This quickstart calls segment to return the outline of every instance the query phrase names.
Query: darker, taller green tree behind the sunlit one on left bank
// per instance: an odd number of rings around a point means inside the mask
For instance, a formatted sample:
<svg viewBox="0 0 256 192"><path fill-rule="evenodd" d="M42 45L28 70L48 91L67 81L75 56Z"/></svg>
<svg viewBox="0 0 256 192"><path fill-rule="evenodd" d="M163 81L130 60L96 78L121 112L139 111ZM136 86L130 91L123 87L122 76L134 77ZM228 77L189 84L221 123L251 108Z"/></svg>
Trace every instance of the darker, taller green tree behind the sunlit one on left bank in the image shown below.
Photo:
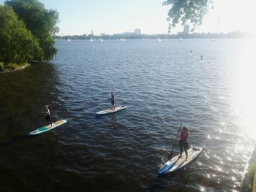
<svg viewBox="0 0 256 192"><path fill-rule="evenodd" d="M39 42L42 51L34 53L34 60L50 60L56 53L54 47L53 35L59 32L59 13L55 10L45 9L44 5L37 0L7 0L5 4L9 5L23 20L26 28L31 31Z"/></svg>

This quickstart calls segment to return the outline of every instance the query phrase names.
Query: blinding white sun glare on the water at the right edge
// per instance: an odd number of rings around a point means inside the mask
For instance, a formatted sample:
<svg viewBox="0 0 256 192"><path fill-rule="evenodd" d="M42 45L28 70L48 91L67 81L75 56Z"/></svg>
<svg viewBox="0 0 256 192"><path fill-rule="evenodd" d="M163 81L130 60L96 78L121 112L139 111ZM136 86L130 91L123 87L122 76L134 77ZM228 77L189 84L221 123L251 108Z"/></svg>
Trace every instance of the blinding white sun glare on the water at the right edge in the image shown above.
<svg viewBox="0 0 256 192"><path fill-rule="evenodd" d="M238 90L237 101L240 109L241 128L249 137L256 138L256 66L255 66L255 44L256 39L246 39L241 45L241 57L238 59Z"/></svg>

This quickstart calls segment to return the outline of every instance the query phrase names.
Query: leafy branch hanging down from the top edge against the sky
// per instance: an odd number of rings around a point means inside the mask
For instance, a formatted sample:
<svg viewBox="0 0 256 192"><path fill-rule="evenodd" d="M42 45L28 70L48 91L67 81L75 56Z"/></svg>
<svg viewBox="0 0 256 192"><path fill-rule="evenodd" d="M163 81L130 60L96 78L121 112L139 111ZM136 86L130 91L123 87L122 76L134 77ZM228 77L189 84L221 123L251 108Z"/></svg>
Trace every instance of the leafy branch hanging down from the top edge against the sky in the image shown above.
<svg viewBox="0 0 256 192"><path fill-rule="evenodd" d="M169 33L172 28L175 28L178 23L184 25L189 22L194 28L202 24L203 16L206 15L208 5L212 1L208 0L167 0L163 5L171 5L168 12L167 20L169 23ZM192 31L194 31L192 28Z"/></svg>

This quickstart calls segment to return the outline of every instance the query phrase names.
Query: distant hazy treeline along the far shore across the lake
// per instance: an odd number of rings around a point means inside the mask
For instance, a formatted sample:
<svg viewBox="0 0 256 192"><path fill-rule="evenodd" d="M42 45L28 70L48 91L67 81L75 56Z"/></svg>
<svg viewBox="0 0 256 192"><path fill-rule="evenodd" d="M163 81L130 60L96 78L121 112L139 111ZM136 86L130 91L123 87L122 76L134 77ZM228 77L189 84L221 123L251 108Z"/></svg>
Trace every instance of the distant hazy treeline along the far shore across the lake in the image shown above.
<svg viewBox="0 0 256 192"><path fill-rule="evenodd" d="M141 35L125 35L125 34L115 34L115 35L67 35L67 36L53 36L54 39L63 39L63 40L90 40L90 39L178 39L178 38L205 38L205 39L218 39L218 38L244 38L251 37L252 34L247 34L241 31L234 31L227 34L215 34L215 33L193 33L193 34L141 34Z"/></svg>

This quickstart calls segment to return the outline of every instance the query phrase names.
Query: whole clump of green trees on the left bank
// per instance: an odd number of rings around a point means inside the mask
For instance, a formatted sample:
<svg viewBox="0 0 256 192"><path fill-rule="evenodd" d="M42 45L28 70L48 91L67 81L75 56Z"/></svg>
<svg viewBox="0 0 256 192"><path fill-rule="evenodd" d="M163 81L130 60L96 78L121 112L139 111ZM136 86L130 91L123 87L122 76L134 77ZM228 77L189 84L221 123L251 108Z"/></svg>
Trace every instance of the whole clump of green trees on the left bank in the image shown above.
<svg viewBox="0 0 256 192"><path fill-rule="evenodd" d="M0 5L0 62L4 65L48 61L57 49L59 13L37 0L10 0Z"/></svg>

